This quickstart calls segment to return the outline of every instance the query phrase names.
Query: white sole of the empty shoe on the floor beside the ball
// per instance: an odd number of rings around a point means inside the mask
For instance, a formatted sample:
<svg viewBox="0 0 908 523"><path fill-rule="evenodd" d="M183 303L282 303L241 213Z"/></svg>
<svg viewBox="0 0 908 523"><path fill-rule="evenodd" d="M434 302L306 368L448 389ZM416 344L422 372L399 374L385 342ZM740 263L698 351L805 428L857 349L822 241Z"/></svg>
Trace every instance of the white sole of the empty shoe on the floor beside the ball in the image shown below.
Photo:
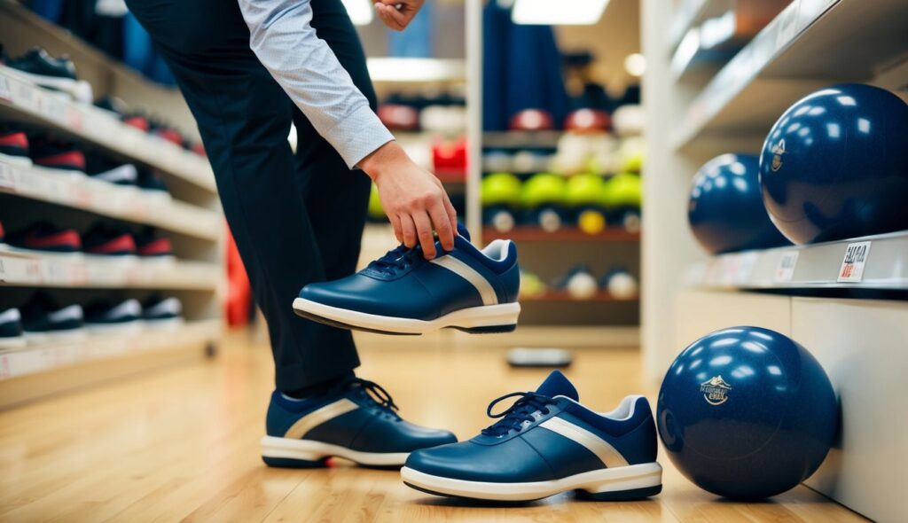
<svg viewBox="0 0 908 523"><path fill-rule="evenodd" d="M432 476L418 470L400 469L403 482L412 488L458 498L492 501L530 501L568 490L582 490L594 499L629 499L653 496L662 488L662 466L656 462L598 469L552 481L493 483Z"/></svg>

